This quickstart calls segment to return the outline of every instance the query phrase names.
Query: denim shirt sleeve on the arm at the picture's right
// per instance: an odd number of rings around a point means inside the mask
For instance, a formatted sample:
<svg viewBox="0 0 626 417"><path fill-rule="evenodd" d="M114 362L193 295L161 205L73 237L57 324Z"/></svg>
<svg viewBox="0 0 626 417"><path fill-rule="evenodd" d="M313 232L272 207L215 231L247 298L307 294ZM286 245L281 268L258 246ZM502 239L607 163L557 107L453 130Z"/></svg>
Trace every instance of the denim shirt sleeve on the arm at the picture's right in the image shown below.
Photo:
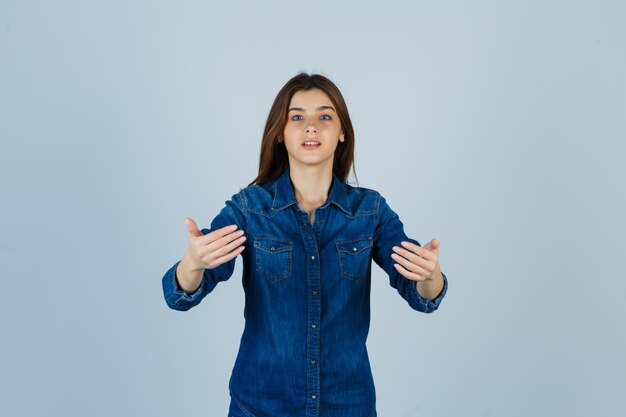
<svg viewBox="0 0 626 417"><path fill-rule="evenodd" d="M391 207L389 207L385 198L380 195L372 258L374 262L389 275L389 285L398 291L400 296L406 300L412 309L424 313L432 313L439 308L441 300L448 291L448 278L442 272L443 288L439 295L433 300L423 298L415 288L415 281L404 277L393 266L396 261L391 257L391 254L395 253L392 247L402 247L400 244L402 241L408 241L422 246L417 240L411 239L404 233L404 226L400 218Z"/></svg>

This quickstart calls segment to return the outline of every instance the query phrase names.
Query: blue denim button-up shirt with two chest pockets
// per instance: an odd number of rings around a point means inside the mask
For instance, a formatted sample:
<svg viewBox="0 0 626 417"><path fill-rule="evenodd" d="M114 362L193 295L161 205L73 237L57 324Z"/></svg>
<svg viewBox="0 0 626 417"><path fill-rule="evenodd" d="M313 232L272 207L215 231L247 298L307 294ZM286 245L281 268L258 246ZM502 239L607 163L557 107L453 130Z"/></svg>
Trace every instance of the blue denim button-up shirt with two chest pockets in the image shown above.
<svg viewBox="0 0 626 417"><path fill-rule="evenodd" d="M392 246L411 241L378 192L333 175L326 202L311 224L293 193L289 169L276 180L234 194L210 229L237 224L243 258L245 326L229 381L229 417L376 416L374 380L365 342L370 323L371 260L415 311L435 311L448 289L422 298L397 272ZM167 305L196 306L230 278L236 258L204 271L187 294L163 276Z"/></svg>

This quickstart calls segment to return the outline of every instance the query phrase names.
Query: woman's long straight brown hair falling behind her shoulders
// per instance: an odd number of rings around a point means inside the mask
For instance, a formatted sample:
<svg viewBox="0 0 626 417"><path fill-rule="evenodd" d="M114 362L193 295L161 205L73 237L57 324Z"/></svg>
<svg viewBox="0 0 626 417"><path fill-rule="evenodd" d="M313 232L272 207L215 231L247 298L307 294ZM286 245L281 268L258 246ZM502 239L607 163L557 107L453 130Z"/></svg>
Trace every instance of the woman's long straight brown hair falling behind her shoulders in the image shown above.
<svg viewBox="0 0 626 417"><path fill-rule="evenodd" d="M350 121L348 107L339 88L323 75L301 72L287 81L287 84L281 88L274 99L267 116L265 130L263 131L261 154L259 156L259 174L248 185L264 184L273 181L289 167L287 148L285 148L284 141L278 142L278 139L283 139L283 131L287 124L287 110L293 95L298 91L307 91L313 88L318 88L328 94L337 110L341 128L344 132L344 141L338 142L337 149L335 149L333 173L342 182L346 182L350 168L352 168L356 178L356 171L354 170L354 129L352 128L352 121Z"/></svg>

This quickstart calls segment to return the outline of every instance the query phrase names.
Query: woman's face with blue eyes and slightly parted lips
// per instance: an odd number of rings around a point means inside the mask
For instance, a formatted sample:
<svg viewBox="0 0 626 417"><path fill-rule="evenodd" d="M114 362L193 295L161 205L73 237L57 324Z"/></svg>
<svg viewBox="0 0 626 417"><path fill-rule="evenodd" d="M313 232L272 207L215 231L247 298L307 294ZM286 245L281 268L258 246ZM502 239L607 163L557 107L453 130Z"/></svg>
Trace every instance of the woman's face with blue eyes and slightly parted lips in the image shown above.
<svg viewBox="0 0 626 417"><path fill-rule="evenodd" d="M300 90L291 98L283 131L289 165L329 165L338 141L344 141L339 116L328 95L318 88ZM317 142L309 146L305 142Z"/></svg>

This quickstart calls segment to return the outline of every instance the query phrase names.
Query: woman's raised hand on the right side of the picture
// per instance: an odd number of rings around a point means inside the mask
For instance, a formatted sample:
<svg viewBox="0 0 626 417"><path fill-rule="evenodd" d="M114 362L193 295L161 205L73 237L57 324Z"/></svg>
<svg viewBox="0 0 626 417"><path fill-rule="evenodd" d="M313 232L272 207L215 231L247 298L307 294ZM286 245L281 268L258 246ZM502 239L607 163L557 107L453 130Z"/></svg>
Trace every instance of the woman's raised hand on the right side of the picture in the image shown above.
<svg viewBox="0 0 626 417"><path fill-rule="evenodd" d="M401 242L403 247L394 246L391 257L397 262L396 267L402 276L412 281L427 281L434 279L440 271L439 241L433 239L425 246L418 246L411 242Z"/></svg>

